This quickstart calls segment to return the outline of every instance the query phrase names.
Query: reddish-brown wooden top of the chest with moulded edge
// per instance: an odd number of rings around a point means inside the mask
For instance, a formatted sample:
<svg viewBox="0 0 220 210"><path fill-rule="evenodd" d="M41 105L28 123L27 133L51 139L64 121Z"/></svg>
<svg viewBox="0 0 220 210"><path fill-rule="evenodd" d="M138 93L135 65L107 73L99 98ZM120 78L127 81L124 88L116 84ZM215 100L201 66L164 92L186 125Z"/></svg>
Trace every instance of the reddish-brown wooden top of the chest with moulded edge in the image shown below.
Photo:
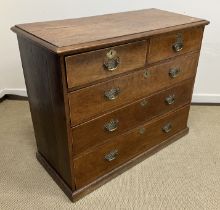
<svg viewBox="0 0 220 210"><path fill-rule="evenodd" d="M55 52L123 41L169 31L185 25L204 25L208 21L158 9L144 9L100 16L15 25L16 33L32 36ZM123 37L123 38L122 38ZM70 47L71 46L71 47Z"/></svg>

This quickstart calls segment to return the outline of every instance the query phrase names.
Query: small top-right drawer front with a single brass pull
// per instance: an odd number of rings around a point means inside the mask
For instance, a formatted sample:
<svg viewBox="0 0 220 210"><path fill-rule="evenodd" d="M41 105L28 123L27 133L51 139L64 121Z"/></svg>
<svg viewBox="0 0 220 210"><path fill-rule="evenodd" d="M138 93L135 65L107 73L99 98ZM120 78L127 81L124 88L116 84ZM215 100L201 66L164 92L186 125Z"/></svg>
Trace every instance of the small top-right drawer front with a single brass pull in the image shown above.
<svg viewBox="0 0 220 210"><path fill-rule="evenodd" d="M150 40L147 62L153 63L182 53L197 51L201 47L203 27L172 32Z"/></svg>

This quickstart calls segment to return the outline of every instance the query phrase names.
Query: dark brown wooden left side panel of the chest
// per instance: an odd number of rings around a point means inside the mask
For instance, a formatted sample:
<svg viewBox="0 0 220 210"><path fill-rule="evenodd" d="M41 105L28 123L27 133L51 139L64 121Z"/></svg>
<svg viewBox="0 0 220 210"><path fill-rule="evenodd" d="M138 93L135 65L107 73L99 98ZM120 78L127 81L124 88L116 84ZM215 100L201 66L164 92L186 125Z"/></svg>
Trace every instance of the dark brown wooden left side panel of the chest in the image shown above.
<svg viewBox="0 0 220 210"><path fill-rule="evenodd" d="M59 58L28 39L18 42L38 151L74 189Z"/></svg>

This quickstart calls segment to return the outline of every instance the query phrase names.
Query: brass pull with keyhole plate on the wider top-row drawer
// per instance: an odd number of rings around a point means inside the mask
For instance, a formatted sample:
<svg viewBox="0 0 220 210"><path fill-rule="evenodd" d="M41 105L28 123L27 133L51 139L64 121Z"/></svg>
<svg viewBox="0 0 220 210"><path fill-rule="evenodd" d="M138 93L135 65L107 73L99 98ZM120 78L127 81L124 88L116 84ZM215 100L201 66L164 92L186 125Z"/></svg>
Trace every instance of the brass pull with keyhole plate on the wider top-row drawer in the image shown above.
<svg viewBox="0 0 220 210"><path fill-rule="evenodd" d="M117 56L117 52L115 50L109 50L104 59L104 67L108 71L114 71L118 68L119 63L120 59Z"/></svg>

